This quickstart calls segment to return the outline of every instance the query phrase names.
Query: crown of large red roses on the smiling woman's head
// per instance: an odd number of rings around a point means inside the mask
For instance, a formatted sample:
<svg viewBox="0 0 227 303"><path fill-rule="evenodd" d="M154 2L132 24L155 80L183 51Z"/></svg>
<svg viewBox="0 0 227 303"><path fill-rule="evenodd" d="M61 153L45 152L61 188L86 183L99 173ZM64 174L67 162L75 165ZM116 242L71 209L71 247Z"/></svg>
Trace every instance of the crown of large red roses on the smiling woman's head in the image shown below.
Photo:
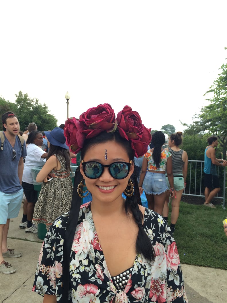
<svg viewBox="0 0 227 303"><path fill-rule="evenodd" d="M147 152L151 141L151 128L146 128L138 112L128 105L117 114L117 119L108 103L89 108L79 119L73 117L65 121L64 135L66 144L78 153L83 148L85 139L93 138L100 132L116 130L123 138L130 140L135 157L143 156Z"/></svg>

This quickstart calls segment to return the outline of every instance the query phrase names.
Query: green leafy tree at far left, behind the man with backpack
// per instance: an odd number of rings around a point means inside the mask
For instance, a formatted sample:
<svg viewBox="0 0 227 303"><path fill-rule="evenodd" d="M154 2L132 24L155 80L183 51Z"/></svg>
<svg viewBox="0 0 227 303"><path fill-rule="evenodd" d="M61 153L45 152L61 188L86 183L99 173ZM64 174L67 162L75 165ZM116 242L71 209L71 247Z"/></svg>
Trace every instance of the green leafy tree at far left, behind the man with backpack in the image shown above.
<svg viewBox="0 0 227 303"><path fill-rule="evenodd" d="M49 114L48 107L45 103L42 105L38 99L31 99L28 97L28 94L23 95L21 91L15 96L15 103L0 98L0 114L2 115L7 111L15 112L22 131L30 122L35 122L38 130L41 131L52 130L57 126L57 119Z"/></svg>

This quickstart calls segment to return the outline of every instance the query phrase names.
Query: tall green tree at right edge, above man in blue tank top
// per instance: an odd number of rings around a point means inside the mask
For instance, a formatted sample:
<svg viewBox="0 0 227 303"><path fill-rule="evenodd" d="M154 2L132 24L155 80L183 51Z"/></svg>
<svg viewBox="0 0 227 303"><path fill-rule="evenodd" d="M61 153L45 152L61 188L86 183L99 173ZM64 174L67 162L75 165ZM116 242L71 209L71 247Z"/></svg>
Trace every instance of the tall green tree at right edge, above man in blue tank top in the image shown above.
<svg viewBox="0 0 227 303"><path fill-rule="evenodd" d="M226 49L226 48L225 48ZM209 90L204 94L210 103L202 107L201 113L196 115L197 121L188 126L188 134L205 132L219 138L223 148L223 158L226 159L227 147L227 62L219 68L219 77L215 79ZM186 125L186 124L183 124ZM207 136L208 137L208 136Z"/></svg>

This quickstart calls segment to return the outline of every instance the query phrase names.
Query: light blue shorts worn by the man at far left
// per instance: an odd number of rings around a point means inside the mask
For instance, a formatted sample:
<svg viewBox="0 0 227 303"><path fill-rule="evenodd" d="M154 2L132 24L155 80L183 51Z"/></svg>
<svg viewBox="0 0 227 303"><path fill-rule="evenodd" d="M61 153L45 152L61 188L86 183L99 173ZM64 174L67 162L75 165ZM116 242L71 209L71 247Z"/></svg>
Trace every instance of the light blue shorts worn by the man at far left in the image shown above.
<svg viewBox="0 0 227 303"><path fill-rule="evenodd" d="M0 191L0 224L6 224L7 219L16 218L21 208L23 188L14 194Z"/></svg>

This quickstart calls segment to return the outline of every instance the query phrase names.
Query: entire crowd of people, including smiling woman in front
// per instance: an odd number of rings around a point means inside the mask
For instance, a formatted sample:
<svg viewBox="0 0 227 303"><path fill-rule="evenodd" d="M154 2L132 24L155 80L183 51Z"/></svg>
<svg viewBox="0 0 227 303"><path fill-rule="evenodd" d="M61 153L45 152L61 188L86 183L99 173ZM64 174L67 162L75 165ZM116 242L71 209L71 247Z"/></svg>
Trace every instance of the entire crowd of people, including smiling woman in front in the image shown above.
<svg viewBox="0 0 227 303"><path fill-rule="evenodd" d="M173 238L188 166L179 148L182 132L171 134L163 148L162 132L151 136L137 112L126 105L115 115L109 104L52 131L42 133L29 123L22 137L13 112L2 115L2 123L0 273L15 272L5 260L21 257L8 248L7 234L24 193L19 226L33 233L38 223L47 228L32 289L45 303L188 302ZM208 143L204 205L214 207L211 200L220 190L215 166L227 162L215 158L217 138ZM70 165L78 154L73 186ZM34 167L40 167L38 197ZM148 208L141 203L143 191ZM88 194L91 201L82 204ZM227 236L227 223L224 231Z"/></svg>

